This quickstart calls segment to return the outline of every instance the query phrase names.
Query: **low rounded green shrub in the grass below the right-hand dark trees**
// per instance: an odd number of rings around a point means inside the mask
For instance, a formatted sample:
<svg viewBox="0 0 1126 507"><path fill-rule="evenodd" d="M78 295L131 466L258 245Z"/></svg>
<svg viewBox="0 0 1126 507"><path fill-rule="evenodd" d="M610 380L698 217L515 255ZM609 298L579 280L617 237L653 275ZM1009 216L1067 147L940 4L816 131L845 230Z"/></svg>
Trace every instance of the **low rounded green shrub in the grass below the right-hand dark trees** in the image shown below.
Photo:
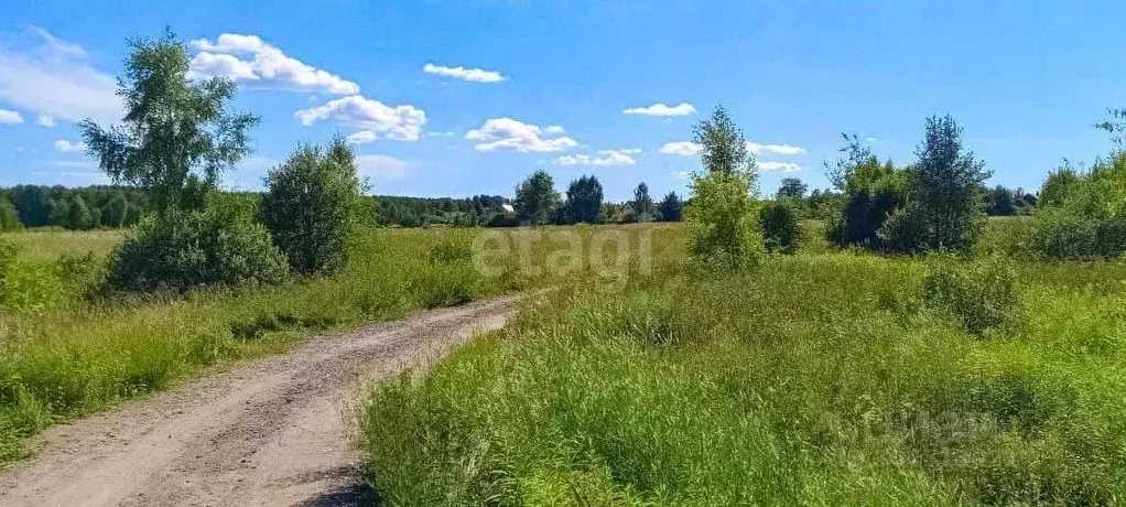
<svg viewBox="0 0 1126 507"><path fill-rule="evenodd" d="M923 277L922 296L929 308L977 336L1012 323L1019 310L1016 275L997 259L940 260Z"/></svg>

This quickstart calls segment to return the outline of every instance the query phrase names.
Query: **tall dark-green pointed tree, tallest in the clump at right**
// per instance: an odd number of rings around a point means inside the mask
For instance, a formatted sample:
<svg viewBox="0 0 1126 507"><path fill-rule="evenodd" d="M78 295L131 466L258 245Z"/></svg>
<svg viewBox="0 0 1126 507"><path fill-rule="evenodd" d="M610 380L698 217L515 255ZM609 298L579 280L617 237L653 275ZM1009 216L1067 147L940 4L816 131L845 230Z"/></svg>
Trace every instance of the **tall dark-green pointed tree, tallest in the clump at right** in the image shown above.
<svg viewBox="0 0 1126 507"><path fill-rule="evenodd" d="M885 224L885 247L910 252L969 249L984 221L982 183L990 172L963 148L962 128L950 116L927 118L926 137L917 153L908 207L896 217L910 225Z"/></svg>

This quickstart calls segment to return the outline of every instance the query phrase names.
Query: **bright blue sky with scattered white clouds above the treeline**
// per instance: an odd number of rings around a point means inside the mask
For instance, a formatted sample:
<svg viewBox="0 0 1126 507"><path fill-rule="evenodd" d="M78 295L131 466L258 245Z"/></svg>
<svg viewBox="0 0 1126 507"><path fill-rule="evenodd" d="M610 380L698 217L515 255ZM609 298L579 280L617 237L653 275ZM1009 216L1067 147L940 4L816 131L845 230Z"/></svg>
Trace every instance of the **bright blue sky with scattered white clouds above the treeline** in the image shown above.
<svg viewBox="0 0 1126 507"><path fill-rule="evenodd" d="M1126 2L249 3L3 2L0 185L102 181L73 122L119 117L125 41L166 25L262 117L224 178L241 188L340 133L377 194L511 195L537 168L561 190L593 174L611 199L642 180L683 192L685 142L716 104L756 143L765 192L828 186L841 132L910 162L923 118L947 113L993 181L1037 188L1107 152L1091 125L1126 107Z"/></svg>

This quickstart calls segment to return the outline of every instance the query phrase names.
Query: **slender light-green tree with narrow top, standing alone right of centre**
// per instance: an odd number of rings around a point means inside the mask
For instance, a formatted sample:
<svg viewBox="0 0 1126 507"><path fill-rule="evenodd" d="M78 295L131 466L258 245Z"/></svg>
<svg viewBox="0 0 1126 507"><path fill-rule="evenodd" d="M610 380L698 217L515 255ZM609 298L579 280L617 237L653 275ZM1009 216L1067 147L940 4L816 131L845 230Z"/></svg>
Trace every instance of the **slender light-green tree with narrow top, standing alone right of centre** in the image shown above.
<svg viewBox="0 0 1126 507"><path fill-rule="evenodd" d="M703 174L692 175L692 201L685 211L689 251L706 268L741 270L762 252L758 206L752 198L758 171L742 131L722 107L695 128Z"/></svg>

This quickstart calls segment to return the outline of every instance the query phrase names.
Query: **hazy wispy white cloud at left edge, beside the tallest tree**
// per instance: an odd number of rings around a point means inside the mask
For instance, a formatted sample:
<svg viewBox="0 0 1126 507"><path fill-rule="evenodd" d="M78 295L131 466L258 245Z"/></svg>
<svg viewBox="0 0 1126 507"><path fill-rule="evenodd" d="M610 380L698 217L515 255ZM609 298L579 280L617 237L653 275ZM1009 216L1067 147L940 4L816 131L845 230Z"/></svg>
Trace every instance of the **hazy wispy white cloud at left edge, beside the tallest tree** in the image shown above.
<svg viewBox="0 0 1126 507"><path fill-rule="evenodd" d="M0 101L54 118L110 123L124 112L116 90L114 77L87 63L77 44L37 27L0 36Z"/></svg>

